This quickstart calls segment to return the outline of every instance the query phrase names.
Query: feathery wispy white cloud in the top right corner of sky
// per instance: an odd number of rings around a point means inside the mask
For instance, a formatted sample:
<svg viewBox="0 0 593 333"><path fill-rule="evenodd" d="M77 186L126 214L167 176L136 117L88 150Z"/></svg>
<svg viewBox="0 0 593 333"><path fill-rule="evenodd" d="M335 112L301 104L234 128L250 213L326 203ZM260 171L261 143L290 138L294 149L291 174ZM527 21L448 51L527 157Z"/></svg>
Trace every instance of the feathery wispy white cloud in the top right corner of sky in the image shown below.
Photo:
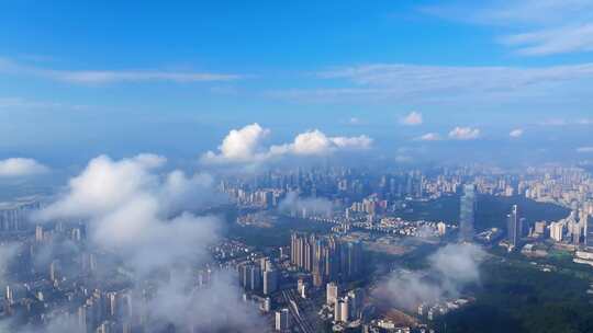
<svg viewBox="0 0 593 333"><path fill-rule="evenodd" d="M499 39L525 56L593 50L590 0L472 1L421 11L471 24L512 28Z"/></svg>

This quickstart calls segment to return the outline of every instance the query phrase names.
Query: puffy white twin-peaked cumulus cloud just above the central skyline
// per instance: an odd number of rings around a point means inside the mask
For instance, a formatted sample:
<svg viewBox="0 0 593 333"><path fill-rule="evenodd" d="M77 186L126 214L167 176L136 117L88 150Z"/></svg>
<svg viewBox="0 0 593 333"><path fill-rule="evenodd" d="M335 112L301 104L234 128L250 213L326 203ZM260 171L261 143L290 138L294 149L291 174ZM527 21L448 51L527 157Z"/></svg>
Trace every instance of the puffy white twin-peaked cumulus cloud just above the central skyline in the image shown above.
<svg viewBox="0 0 593 333"><path fill-rule="evenodd" d="M201 158L204 163L260 163L287 156L327 156L340 150L368 149L372 139L367 136L328 137L318 129L299 134L290 143L261 147L269 129L258 124L233 129L219 146L219 152L208 151Z"/></svg>

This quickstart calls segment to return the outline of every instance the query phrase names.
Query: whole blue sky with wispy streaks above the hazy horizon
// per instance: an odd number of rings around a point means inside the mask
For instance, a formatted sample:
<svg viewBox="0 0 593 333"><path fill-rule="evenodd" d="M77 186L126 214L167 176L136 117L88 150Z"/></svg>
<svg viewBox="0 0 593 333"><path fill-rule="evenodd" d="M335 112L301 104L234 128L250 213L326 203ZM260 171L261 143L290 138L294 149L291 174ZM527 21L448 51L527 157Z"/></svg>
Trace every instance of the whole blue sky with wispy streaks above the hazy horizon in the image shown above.
<svg viewBox="0 0 593 333"><path fill-rule="evenodd" d="M272 141L318 128L417 151L574 152L593 146L591 12L589 0L4 1L0 157L189 159L255 122ZM422 124L403 124L411 112ZM479 135L450 142L456 127Z"/></svg>

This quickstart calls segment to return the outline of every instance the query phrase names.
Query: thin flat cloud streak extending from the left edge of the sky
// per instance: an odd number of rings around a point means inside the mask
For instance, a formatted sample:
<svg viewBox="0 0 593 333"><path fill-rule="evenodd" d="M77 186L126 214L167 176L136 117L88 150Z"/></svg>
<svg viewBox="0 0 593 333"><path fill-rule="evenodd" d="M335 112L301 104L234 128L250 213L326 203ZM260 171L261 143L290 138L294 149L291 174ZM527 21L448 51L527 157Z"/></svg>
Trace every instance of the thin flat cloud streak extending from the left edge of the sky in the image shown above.
<svg viewBox="0 0 593 333"><path fill-rule="evenodd" d="M23 74L82 84L107 84L115 82L215 82L242 79L238 74L193 72L193 71L165 71L165 70L64 70L47 69L27 66L11 59L0 58L0 72Z"/></svg>

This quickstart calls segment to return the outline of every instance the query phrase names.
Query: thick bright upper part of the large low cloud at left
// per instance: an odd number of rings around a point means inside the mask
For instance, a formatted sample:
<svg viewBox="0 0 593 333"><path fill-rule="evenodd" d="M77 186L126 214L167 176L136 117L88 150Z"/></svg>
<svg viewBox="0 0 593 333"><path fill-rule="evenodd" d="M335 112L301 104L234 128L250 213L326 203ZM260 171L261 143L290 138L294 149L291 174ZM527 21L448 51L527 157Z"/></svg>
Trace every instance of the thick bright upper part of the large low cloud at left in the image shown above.
<svg viewBox="0 0 593 333"><path fill-rule="evenodd" d="M96 245L122 254L141 271L203 255L216 239L216 219L182 211L215 197L212 181L181 171L161 177L156 169L164 162L155 154L98 157L35 218L88 220Z"/></svg>

